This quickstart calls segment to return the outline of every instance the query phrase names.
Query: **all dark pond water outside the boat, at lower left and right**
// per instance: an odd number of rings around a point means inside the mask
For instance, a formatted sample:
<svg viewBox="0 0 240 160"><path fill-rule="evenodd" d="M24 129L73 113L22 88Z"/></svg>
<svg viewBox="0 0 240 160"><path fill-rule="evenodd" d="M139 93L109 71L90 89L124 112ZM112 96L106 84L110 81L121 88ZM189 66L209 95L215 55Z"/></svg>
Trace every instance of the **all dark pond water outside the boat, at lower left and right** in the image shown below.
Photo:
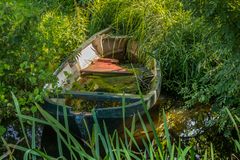
<svg viewBox="0 0 240 160"><path fill-rule="evenodd" d="M178 144L179 140L181 140L183 146L194 145L194 149L198 150L198 154L204 154L205 149L209 148L210 143L213 143L220 152L216 154L227 155L231 152L227 149L228 145L230 145L228 144L228 141L217 132L214 126L210 127L213 119L213 116L210 113L210 106L196 106L193 109L182 109L181 106L181 101L161 96L158 103L150 110L151 117L160 138L164 139L162 116L164 109L167 115L167 122L172 141ZM143 119L146 123L148 134L153 138L152 128L150 127L147 118L143 117ZM3 137L8 143L25 145L22 140L23 136L20 124L17 120L8 120L1 125L4 125L6 128ZM43 128L43 126L37 126L35 137L37 146L42 147L48 154L56 156L58 154L56 134L49 127ZM31 126L26 126L26 132L28 138L31 139ZM141 138L145 137L145 132L143 131L140 122L136 123L136 132L134 136L139 142L139 145L141 145ZM1 152L4 154L3 147L0 148L0 153ZM18 152L16 152L16 154L19 155Z"/></svg>

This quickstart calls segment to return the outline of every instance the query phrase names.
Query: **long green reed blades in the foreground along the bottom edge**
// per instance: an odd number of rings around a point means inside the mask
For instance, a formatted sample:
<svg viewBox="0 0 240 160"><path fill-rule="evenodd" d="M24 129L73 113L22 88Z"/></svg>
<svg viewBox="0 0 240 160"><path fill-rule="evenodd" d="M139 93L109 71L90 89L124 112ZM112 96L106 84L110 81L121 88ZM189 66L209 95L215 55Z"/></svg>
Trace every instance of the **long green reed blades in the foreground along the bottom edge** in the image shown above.
<svg viewBox="0 0 240 160"><path fill-rule="evenodd" d="M146 139L142 139L142 143L144 147L140 147L137 143L134 132L135 132L135 118L133 118L132 126L130 129L128 127L124 127L124 136L120 136L117 131L113 134L109 134L106 125L104 124L103 130L100 128L96 115L93 112L93 117L95 119L95 124L93 127L93 132L89 133L89 140L86 140L84 145L80 143L70 132L68 129L68 124L66 121L67 114L65 113L65 123L64 125L59 123L58 120L53 118L50 114L48 114L45 110L43 110L38 104L36 107L38 111L41 113L41 119L36 118L34 116L24 115L21 113L19 103L16 97L13 95L17 116L19 117L19 121L23 133L25 132L24 121L29 121L32 123L32 136L35 133L35 125L48 125L54 129L56 134L60 137L60 141L58 141L58 145L63 143L68 152L70 153L70 157L64 157L64 153L59 151L59 157L51 157L45 151L42 151L40 148L36 148L36 141L34 137L32 137L31 145L20 146L18 144L8 144L4 138L2 137L2 141L4 142L4 146L6 147L6 153L3 154L2 157L8 157L9 159L19 159L20 157L14 157L14 150L19 150L24 153L23 159L194 159L195 154L192 153L192 147L186 146L184 148L181 145L176 145L172 143L171 136L168 131L166 114L163 112L163 120L164 120L164 130L165 130L165 141L166 145L162 144L163 139L159 139L159 137L154 137L150 139L149 133L147 131L147 127L145 122L143 121L140 115L138 118L141 121L142 128L145 132ZM236 147L236 155L240 153L240 139L239 139L239 130L238 126L240 124L239 117L232 115L229 110L227 110L233 125L236 128L238 139L233 139L233 142ZM146 112L146 114L149 114ZM150 123L153 123L151 117L148 118ZM154 126L151 128L153 131L155 130ZM156 131L156 130L155 130ZM28 142L28 138L25 137L25 141ZM29 144L29 143L28 143ZM163 146L162 146L163 145ZM102 147L101 147L102 146ZM62 148L58 148L62 150ZM90 150L90 151L89 151ZM210 150L205 152L204 155L201 155L203 159L214 159L214 147L210 146Z"/></svg>

